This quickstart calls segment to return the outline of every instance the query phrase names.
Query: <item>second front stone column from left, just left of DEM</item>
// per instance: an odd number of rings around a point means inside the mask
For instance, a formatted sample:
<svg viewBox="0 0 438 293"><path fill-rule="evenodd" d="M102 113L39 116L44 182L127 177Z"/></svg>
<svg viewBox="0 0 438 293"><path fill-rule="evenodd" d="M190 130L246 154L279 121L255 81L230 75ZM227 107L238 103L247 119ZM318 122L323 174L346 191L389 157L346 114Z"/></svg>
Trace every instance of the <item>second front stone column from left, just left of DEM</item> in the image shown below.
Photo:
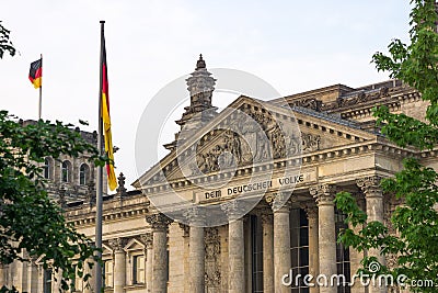
<svg viewBox="0 0 438 293"><path fill-rule="evenodd" d="M189 292L203 293L205 290L205 216L198 207L191 207L184 214L189 223L188 282Z"/></svg>

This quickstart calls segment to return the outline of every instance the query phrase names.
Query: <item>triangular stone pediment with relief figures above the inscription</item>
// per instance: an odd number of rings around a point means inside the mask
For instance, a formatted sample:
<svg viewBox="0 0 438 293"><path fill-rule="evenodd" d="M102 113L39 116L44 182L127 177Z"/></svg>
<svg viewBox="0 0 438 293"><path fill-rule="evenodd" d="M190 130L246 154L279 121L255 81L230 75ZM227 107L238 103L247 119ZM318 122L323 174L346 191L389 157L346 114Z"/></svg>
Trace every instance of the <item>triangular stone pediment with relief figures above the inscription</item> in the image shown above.
<svg viewBox="0 0 438 293"><path fill-rule="evenodd" d="M157 185L376 139L354 122L304 108L240 97L177 145L134 185Z"/></svg>

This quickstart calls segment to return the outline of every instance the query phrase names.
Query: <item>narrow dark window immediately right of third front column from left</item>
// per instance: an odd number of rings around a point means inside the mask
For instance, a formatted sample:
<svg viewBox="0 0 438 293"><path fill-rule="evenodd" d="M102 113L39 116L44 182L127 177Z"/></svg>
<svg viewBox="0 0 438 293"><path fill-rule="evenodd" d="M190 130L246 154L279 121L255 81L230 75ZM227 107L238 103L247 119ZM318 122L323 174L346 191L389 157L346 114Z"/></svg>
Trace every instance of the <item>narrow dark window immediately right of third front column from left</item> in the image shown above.
<svg viewBox="0 0 438 293"><path fill-rule="evenodd" d="M251 215L252 293L263 293L263 232L261 217Z"/></svg>

